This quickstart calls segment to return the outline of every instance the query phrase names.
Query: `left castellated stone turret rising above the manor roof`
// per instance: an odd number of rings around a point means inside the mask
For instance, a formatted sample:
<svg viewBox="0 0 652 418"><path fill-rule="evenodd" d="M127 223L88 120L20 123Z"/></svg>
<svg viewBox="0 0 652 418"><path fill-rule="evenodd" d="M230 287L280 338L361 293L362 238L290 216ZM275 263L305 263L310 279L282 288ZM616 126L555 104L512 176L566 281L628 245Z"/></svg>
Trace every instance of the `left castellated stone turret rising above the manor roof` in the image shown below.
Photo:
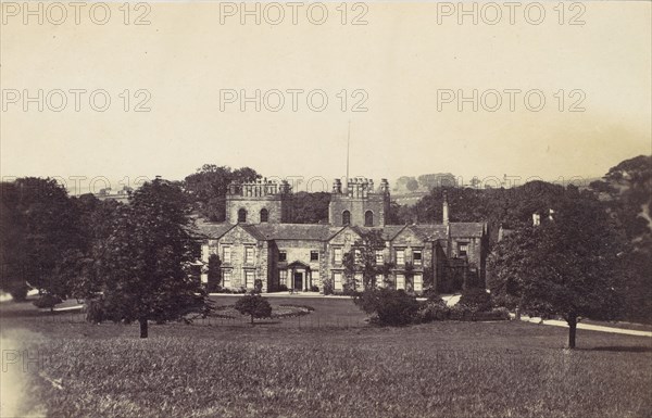
<svg viewBox="0 0 652 418"><path fill-rule="evenodd" d="M226 221L229 224L291 223L291 187L283 180L258 179L233 182L226 193Z"/></svg>

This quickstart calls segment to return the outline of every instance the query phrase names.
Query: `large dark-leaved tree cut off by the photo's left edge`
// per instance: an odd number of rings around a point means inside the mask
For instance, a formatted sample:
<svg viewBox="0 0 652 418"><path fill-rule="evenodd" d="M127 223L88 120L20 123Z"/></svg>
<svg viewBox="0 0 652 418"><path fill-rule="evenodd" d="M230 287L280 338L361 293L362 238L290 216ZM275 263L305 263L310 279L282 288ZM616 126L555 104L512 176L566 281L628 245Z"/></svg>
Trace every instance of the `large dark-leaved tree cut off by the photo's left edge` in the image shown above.
<svg viewBox="0 0 652 418"><path fill-rule="evenodd" d="M50 178L25 177L1 187L0 287L14 299L28 288L54 297L71 293L66 261L84 246L76 206Z"/></svg>

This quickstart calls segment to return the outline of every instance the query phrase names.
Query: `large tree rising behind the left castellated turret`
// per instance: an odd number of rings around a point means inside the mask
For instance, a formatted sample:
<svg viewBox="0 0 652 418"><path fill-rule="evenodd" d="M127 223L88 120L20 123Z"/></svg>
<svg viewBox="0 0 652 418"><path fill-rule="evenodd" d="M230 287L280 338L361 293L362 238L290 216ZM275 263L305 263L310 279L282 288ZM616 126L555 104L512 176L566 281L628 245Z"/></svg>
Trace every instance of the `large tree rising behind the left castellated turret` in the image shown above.
<svg viewBox="0 0 652 418"><path fill-rule="evenodd" d="M233 181L253 181L261 178L253 168L231 169L228 166L204 164L184 180L184 189L195 210L213 221L226 217L226 191Z"/></svg>

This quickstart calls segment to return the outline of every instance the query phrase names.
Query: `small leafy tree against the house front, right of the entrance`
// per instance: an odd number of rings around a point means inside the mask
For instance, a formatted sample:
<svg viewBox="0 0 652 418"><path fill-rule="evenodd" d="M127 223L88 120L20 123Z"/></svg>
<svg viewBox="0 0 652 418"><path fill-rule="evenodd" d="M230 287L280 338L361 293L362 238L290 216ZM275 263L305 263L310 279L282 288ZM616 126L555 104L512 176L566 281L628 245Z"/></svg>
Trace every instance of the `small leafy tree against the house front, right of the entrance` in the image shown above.
<svg viewBox="0 0 652 418"><path fill-rule="evenodd" d="M385 240L379 230L371 230L362 235L356 240L351 250L344 254L342 264L344 266L344 277L349 283L350 290L356 290L359 284L358 277L362 277L363 289L374 289L376 277L385 275L385 264L378 264L376 261L376 251L385 250Z"/></svg>

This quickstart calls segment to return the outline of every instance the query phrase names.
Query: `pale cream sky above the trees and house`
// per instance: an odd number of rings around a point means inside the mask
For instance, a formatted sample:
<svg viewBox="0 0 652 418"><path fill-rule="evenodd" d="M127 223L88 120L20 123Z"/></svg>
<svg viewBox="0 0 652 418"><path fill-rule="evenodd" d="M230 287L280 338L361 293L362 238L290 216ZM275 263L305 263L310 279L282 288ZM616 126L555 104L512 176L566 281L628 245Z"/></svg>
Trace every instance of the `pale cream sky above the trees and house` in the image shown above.
<svg viewBox="0 0 652 418"><path fill-rule="evenodd" d="M330 181L349 136L350 175L376 180L598 177L652 153L648 1L63 4L2 3L5 179Z"/></svg>

